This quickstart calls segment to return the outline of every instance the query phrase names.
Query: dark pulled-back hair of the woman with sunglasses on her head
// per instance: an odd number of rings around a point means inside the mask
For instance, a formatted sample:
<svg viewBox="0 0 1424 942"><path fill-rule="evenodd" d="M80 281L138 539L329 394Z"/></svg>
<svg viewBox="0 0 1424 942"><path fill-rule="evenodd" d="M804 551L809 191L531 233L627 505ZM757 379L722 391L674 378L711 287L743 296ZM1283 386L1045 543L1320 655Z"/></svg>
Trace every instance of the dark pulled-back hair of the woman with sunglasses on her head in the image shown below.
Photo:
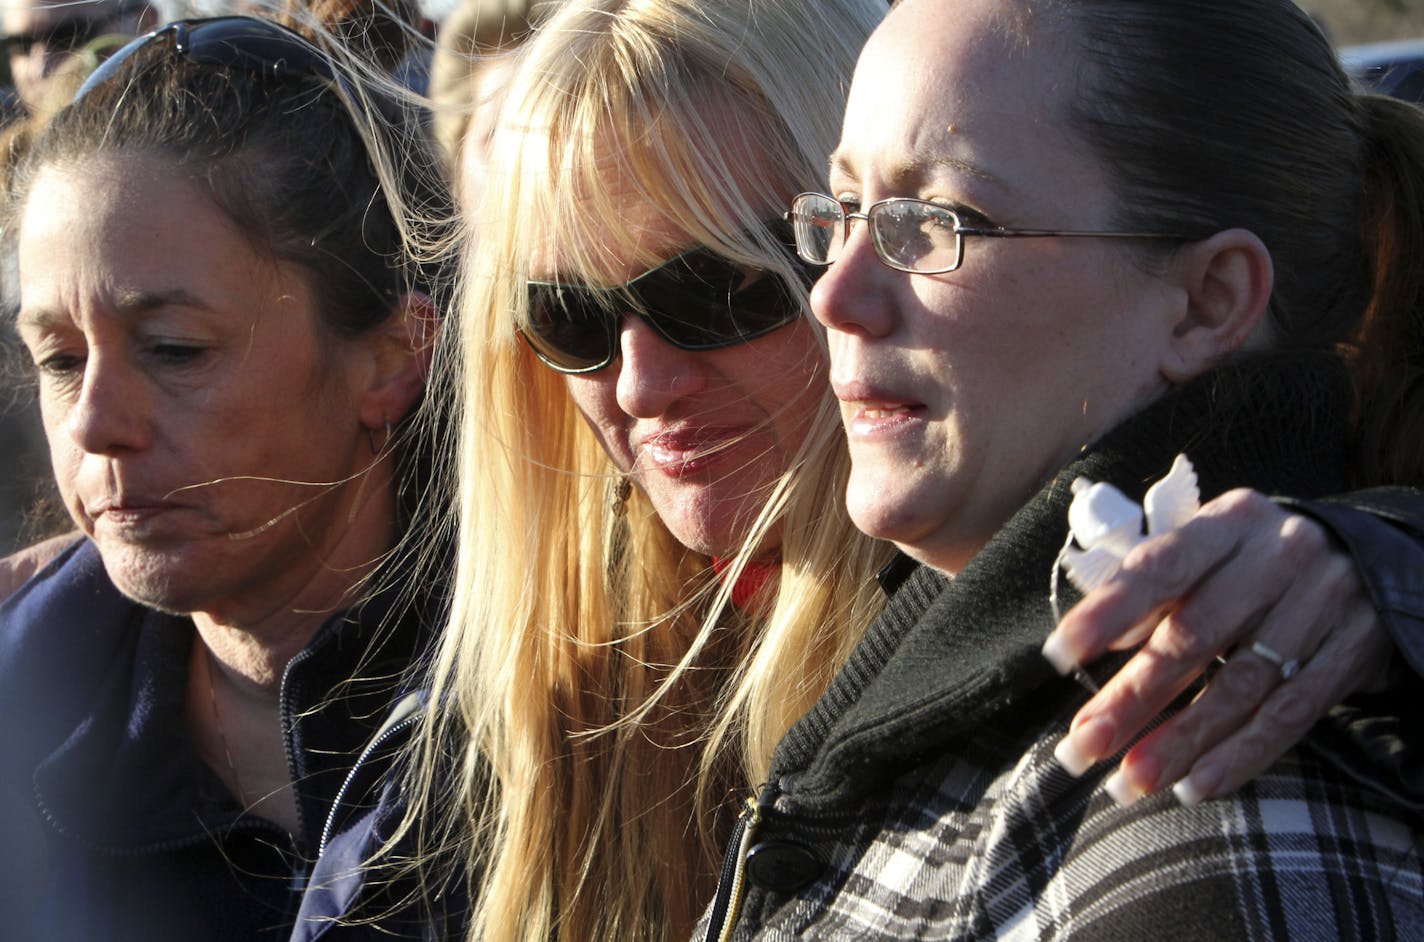
<svg viewBox="0 0 1424 942"><path fill-rule="evenodd" d="M328 327L359 334L407 292L443 296L446 279L413 260L409 231L453 219L420 115L379 90L362 98L367 107L325 78L218 67L154 43L56 115L20 171L11 216L44 165L161 157L259 252L309 275Z"/></svg>

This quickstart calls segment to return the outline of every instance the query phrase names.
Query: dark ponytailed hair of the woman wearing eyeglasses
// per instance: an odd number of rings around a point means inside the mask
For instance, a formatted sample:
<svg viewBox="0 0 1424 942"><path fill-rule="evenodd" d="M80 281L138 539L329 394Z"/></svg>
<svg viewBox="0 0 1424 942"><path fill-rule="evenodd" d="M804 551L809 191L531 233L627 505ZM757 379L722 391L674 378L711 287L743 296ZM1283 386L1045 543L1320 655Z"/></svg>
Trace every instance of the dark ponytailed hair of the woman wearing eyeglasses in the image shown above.
<svg viewBox="0 0 1424 942"><path fill-rule="evenodd" d="M1048 0L1091 68L1069 121L1124 229L1255 232L1272 344L1339 350L1361 484L1424 484L1424 114L1354 90L1290 0Z"/></svg>

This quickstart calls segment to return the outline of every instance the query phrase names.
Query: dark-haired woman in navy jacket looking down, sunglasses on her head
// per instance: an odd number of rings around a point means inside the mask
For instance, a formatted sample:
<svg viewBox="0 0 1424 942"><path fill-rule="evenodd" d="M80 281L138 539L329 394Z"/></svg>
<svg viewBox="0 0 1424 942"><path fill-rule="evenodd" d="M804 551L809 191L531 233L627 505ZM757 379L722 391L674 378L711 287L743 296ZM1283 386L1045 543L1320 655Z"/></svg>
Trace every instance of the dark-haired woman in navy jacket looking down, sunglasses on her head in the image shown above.
<svg viewBox="0 0 1424 942"><path fill-rule="evenodd" d="M16 327L84 538L0 609L6 938L286 938L423 645L394 546L441 285L406 213L451 202L419 115L332 55L171 24L17 182Z"/></svg>

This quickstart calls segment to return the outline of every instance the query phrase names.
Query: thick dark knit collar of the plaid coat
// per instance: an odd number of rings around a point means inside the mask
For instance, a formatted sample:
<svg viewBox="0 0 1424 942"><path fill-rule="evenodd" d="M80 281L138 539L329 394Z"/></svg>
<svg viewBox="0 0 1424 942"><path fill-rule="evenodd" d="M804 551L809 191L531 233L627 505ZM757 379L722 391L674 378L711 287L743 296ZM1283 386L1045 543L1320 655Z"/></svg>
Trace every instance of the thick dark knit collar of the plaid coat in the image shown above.
<svg viewBox="0 0 1424 942"><path fill-rule="evenodd" d="M826 696L778 747L773 770L792 776L803 800L844 801L871 787L877 770L918 761L1057 680L1038 649L1052 629L1049 578L1075 478L1141 499L1186 453L1203 499L1239 485L1337 491L1349 404L1333 359L1246 360L1151 404L1062 468L953 579L927 568L903 578Z"/></svg>

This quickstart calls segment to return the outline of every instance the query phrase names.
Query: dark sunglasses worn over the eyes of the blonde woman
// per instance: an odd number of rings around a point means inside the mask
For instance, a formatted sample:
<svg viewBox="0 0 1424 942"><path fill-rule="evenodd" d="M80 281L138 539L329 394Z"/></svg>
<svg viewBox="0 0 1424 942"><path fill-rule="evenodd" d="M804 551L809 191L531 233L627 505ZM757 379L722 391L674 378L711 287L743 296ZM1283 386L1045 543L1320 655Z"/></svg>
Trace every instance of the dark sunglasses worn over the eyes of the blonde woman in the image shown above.
<svg viewBox="0 0 1424 942"><path fill-rule="evenodd" d="M787 246L790 231L768 228ZM805 285L819 269L799 266ZM756 340L802 316L802 299L765 269L712 249L684 252L615 289L530 282L530 320L520 330L538 359L560 373L592 373L618 357L618 330L638 314L679 350L718 350ZM624 303L624 300L629 303Z"/></svg>

